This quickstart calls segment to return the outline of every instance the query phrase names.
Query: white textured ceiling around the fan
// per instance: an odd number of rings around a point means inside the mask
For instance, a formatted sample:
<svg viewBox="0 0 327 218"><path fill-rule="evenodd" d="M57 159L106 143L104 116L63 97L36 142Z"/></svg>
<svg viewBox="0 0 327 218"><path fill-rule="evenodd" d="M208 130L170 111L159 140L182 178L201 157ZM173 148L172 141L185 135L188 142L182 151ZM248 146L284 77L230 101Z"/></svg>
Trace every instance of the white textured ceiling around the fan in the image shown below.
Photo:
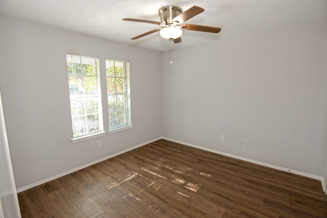
<svg viewBox="0 0 327 218"><path fill-rule="evenodd" d="M123 18L160 21L158 9L175 5L184 10L196 5L205 11L186 21L221 28L221 32L183 31L174 44L159 32L131 40L160 26L123 21ZM327 1L201 1L201 0L108 0L108 1L4 1L1 17L22 20L163 52L242 35L278 31L285 27L327 20ZM303 30L306 31L306 30Z"/></svg>

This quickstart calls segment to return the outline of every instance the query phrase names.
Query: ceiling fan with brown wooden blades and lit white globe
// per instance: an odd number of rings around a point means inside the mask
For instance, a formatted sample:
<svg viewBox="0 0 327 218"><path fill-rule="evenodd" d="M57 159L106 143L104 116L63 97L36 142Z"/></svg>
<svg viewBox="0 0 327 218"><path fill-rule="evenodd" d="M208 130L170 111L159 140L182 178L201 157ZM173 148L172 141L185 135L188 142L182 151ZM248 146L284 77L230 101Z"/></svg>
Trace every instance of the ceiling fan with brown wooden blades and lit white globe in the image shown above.
<svg viewBox="0 0 327 218"><path fill-rule="evenodd" d="M182 35L182 30L193 30L193 31L201 31L208 33L219 33L220 28L216 27L207 27L200 26L194 24L186 24L184 23L186 20L191 19L192 17L203 12L204 9L198 6L193 6L188 10L182 12L182 9L177 6L165 6L159 9L159 16L161 22L150 21L150 20L142 20L142 19L133 19L133 18L124 18L123 20L127 21L135 21L135 22L145 22L152 23L154 25L159 25L161 28L151 30L149 32L143 33L141 35L135 36L131 39L138 39L143 36L149 35L151 33L155 33L160 31L160 36L165 39L173 40L174 43L181 42L180 36Z"/></svg>

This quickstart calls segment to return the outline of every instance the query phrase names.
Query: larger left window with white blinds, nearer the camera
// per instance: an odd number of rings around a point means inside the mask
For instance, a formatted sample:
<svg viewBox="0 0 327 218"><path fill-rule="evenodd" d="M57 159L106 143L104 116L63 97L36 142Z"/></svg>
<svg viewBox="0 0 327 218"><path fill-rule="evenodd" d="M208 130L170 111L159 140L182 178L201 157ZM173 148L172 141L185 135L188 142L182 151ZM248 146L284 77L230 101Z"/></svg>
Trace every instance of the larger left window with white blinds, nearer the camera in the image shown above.
<svg viewBox="0 0 327 218"><path fill-rule="evenodd" d="M103 131L99 58L67 54L73 139Z"/></svg>

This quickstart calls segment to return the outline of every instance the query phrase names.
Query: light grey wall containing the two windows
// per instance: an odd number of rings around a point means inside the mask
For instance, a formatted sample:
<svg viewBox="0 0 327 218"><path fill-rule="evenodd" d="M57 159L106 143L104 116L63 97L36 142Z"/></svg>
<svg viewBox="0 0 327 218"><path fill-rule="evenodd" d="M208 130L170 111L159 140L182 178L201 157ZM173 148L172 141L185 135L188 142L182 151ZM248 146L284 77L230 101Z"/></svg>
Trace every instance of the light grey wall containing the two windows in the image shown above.
<svg viewBox="0 0 327 218"><path fill-rule="evenodd" d="M1 92L17 188L161 136L159 53L4 18L1 45ZM105 58L130 61L133 129L71 142L66 53L98 56L102 69Z"/></svg>

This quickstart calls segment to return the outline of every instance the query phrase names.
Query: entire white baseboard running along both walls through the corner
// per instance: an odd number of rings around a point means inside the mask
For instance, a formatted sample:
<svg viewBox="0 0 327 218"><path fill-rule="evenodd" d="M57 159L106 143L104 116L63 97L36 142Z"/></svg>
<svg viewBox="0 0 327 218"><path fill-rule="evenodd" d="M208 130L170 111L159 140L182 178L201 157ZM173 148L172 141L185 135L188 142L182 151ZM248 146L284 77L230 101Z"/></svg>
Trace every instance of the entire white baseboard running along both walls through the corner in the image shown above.
<svg viewBox="0 0 327 218"><path fill-rule="evenodd" d="M98 159L98 160L95 160L95 161L92 161L92 162L86 163L86 164L81 165L81 166L79 166L79 167L76 167L76 168L70 169L69 171L66 171L66 172L63 172L63 173L57 174L57 175L55 175L55 176L52 176L52 177L49 177L49 178L43 179L43 180L41 180L41 181L38 181L38 182L32 183L32 184L30 184L30 185L27 185L27 186L24 186L24 187L18 188L18 189L17 189L17 193L19 193L19 192L21 192L21 191L25 191L25 190L30 189L30 188L33 188L33 187L35 187L35 186L41 185L41 184L43 184L43 183L50 182L50 181L52 181L52 180L54 180L54 179L58 179L58 178L60 178L60 177L62 177L62 176L66 176L66 175L68 175L68 174L74 173L74 172L76 172L76 171L79 171L80 169L83 169L83 168L88 167L88 166L90 166L90 165L93 165L93 164L99 163L99 162L101 162L101 161L107 160L107 159L112 158L112 157L114 157L114 156L117 156L117 155L123 154L123 153L125 153L125 152L131 151L131 150L133 150L133 149L136 149L136 148L139 148L139 147L145 146L146 144L151 143L151 142L156 141L156 140L161 139L161 138L162 138L162 139L169 140L169 141L177 142L177 143L180 143L180 144L184 144L185 146L190 146L190 147L197 148L197 149L201 149L201 150L204 150L204 151L213 152L213 153L216 153L216 154L221 154L221 155L224 155L224 156L227 156L227 157L232 157L232 158L236 158L236 159L239 159L239 160L244 160L244 161L247 161L247 162L251 162L251 163L259 164L259 165L262 165L262 166L267 166L267 167L270 167L270 168L273 168L273 169L279 169L280 171L290 172L290 173L292 173L292 174L296 174L296 175L305 176L305 177L308 177L308 178L312 178L312 179L320 180L320 181L321 181L321 185L322 185L322 189L323 189L323 191L325 191L326 194L327 194L326 183L325 183L324 178L321 177L321 176L316 176L316 175L307 174L307 173L303 173L303 172L299 172L299 171L294 171L293 169L288 169L288 168L285 168L285 167L276 166L276 165L273 165L273 164L264 163L264 162L260 162L260 161L256 161L256 160L252 160L252 159L248 159L248 158L244 158L244 157L241 157L241 156L232 155L232 154L228 154L228 153L225 153L225 152L220 152L220 151L213 150L213 149L208 149L208 148L201 147L201 146L196 146L195 144L191 144L191 143L187 143L187 142L183 142L183 141L178 141L178 140L174 140L174 139L167 138L167 137L158 137L158 138L155 138L155 139L149 140L149 141L147 141L147 142L144 142L144 143L138 144L137 146L131 147L131 148L129 148L129 149L125 149L125 150L120 151L120 152L117 152L117 153L115 153L115 154L112 154L112 155L109 155L109 156L103 157L103 158L101 158L101 159Z"/></svg>

